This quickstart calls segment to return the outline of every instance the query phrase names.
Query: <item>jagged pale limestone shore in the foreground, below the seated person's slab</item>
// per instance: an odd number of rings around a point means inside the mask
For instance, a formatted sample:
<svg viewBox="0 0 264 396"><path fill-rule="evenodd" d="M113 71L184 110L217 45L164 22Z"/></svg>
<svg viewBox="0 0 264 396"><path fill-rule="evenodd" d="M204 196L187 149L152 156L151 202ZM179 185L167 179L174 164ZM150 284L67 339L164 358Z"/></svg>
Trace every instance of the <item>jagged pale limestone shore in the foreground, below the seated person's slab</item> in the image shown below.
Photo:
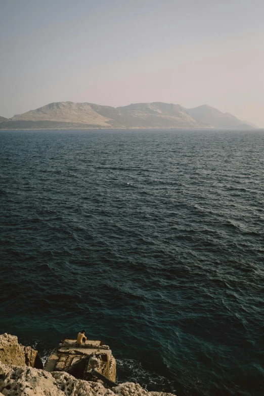
<svg viewBox="0 0 264 396"><path fill-rule="evenodd" d="M99 382L76 379L63 371L49 373L29 367L34 365L31 358L36 353L29 348L20 345L16 336L0 335L0 396L174 396L148 392L133 382L109 389Z"/></svg>

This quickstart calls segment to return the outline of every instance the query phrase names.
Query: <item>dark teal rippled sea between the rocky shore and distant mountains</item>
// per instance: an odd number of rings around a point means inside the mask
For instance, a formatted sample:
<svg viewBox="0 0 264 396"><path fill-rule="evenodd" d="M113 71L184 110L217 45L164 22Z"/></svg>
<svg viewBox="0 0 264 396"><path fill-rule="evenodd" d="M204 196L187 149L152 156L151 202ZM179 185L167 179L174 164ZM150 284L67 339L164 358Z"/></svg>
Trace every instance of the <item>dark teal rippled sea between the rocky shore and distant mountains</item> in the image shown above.
<svg viewBox="0 0 264 396"><path fill-rule="evenodd" d="M2 131L0 332L118 380L264 391L264 131Z"/></svg>

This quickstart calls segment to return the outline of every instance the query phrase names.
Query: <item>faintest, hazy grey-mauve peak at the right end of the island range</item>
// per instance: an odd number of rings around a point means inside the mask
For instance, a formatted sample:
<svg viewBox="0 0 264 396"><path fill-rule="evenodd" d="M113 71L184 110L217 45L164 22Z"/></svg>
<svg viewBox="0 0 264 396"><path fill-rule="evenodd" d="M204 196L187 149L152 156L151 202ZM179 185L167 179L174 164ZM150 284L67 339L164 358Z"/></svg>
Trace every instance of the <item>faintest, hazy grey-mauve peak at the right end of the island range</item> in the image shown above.
<svg viewBox="0 0 264 396"><path fill-rule="evenodd" d="M247 121L241 121L230 113L222 113L221 111L210 107L208 105L202 105L194 107L193 109L186 109L191 117L195 120L204 122L207 125L211 125L214 128L224 129L250 129L252 125Z"/></svg>

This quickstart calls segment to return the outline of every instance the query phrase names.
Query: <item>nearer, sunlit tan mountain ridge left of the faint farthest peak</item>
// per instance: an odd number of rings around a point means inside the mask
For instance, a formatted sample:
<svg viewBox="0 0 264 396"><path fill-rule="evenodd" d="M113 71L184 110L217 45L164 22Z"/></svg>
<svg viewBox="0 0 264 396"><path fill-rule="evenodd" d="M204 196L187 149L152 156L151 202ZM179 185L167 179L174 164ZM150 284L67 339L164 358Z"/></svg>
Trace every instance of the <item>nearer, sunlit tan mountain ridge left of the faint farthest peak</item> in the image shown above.
<svg viewBox="0 0 264 396"><path fill-rule="evenodd" d="M114 108L94 103L57 102L16 114L4 129L204 128L180 105L137 103Z"/></svg>

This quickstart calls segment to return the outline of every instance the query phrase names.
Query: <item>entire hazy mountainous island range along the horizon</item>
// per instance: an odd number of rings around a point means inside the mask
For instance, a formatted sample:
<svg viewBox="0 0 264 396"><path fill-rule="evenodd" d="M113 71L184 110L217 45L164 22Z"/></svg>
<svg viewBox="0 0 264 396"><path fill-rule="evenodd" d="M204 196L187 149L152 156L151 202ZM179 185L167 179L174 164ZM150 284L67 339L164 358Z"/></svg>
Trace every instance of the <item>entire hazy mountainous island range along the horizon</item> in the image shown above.
<svg viewBox="0 0 264 396"><path fill-rule="evenodd" d="M208 105L186 109L162 102L136 103L117 108L86 102L55 102L9 119L0 117L1 130L150 128L252 129L257 126Z"/></svg>

